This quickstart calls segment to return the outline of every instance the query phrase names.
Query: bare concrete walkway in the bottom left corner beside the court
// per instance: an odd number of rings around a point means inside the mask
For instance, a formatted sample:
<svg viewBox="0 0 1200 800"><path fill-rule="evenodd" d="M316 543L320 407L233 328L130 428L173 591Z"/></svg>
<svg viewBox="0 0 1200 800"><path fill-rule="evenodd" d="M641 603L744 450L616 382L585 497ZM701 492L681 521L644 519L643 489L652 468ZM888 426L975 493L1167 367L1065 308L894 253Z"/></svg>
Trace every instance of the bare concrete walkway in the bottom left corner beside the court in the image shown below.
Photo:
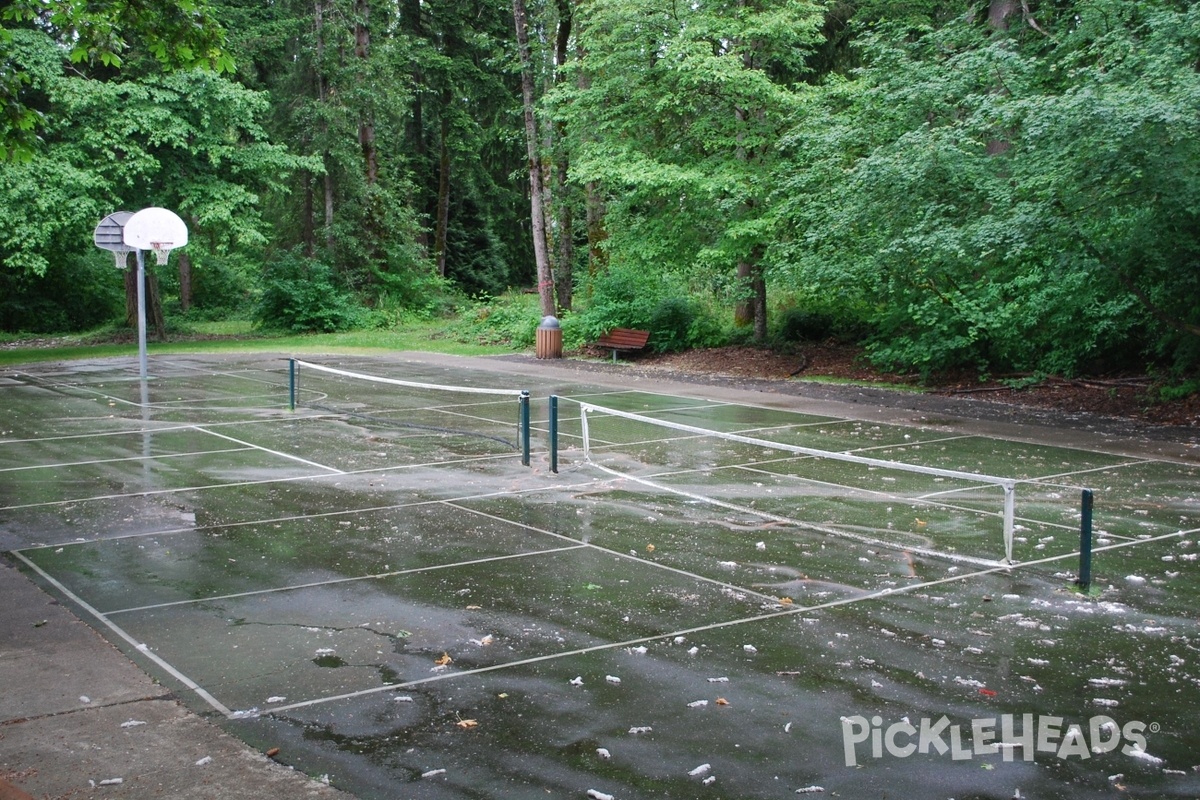
<svg viewBox="0 0 1200 800"><path fill-rule="evenodd" d="M0 800L349 798L188 711L0 557Z"/></svg>

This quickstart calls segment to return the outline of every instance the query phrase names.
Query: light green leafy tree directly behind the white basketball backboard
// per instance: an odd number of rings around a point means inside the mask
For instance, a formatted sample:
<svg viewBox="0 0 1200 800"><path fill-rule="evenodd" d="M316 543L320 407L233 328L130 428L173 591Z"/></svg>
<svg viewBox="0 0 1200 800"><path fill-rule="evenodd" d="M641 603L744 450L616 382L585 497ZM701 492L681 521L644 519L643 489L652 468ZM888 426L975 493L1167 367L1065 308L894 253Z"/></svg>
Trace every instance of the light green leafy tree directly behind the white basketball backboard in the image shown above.
<svg viewBox="0 0 1200 800"><path fill-rule="evenodd" d="M44 34L20 36L44 54L58 49ZM176 266L245 269L268 240L262 196L314 166L266 140L265 97L211 71L95 80L66 73L61 60L55 74L50 62L47 55L43 144L28 161L0 166L6 269L46 276L98 255L96 223L149 205L178 211L191 229Z"/></svg>

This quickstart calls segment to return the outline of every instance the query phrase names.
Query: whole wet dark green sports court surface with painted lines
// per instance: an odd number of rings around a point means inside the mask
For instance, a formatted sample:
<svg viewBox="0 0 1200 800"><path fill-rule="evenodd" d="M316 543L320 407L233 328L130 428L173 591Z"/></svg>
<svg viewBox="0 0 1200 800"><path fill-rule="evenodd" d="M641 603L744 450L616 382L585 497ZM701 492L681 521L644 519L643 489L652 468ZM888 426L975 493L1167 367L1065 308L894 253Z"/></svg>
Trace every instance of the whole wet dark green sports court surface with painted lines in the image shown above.
<svg viewBox="0 0 1200 800"><path fill-rule="evenodd" d="M527 389L532 464L515 399L301 366L290 411L280 357L155 359L144 389L128 361L0 373L0 547L296 769L362 798L1200 794L1186 447L311 360ZM749 440L592 413L587 462L581 403ZM1000 487L761 443L1012 479L1015 565Z"/></svg>

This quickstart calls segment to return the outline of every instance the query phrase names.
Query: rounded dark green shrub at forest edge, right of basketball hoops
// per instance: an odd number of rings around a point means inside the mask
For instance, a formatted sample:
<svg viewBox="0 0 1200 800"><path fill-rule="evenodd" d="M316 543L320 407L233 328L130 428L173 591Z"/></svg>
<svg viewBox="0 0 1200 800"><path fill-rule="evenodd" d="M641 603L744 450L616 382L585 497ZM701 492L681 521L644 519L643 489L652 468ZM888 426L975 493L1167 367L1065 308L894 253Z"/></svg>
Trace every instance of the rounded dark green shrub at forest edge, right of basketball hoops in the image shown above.
<svg viewBox="0 0 1200 800"><path fill-rule="evenodd" d="M354 296L338 285L332 269L288 251L266 266L254 321L296 333L332 333L368 320Z"/></svg>

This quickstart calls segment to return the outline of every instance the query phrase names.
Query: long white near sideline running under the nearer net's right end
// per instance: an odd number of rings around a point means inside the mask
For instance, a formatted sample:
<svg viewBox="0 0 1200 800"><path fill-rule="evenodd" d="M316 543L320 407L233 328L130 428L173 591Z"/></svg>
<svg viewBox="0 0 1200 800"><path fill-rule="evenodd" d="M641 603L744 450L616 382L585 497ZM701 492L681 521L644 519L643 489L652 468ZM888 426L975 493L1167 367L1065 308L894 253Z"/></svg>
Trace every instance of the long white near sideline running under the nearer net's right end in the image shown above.
<svg viewBox="0 0 1200 800"><path fill-rule="evenodd" d="M1164 540L1164 539L1170 539L1170 537L1174 537L1174 536L1192 535L1192 534L1195 534L1195 533L1200 533L1200 529L1194 529L1194 530L1188 530L1188 531L1182 531L1181 530L1181 531L1177 531L1177 533L1174 533L1174 534L1165 534L1163 536L1157 536L1157 537L1148 539L1148 540L1139 540L1136 542L1122 542L1120 545L1109 545L1109 546L1105 546L1105 547L1093 548L1092 553L1098 553L1098 552L1103 552L1103 551L1111 551L1111 549L1118 549L1118 548L1122 548L1122 547L1133 547L1135 545L1150 543L1150 542L1160 541L1160 540ZM930 587L936 587L936 585L941 585L941 584L955 583L955 582L960 582L960 581L970 581L972 578L979 578L979 577L984 577L984 576L988 576L988 575L994 575L994 573L997 573L997 572L1006 572L1007 573L1007 572L1010 572L1013 570L1025 569L1025 567L1030 567L1030 566L1037 566L1037 565L1042 565L1042 564L1050 564L1052 561L1061 561L1061 560L1064 560L1064 559L1068 559L1068 558L1075 558L1078 555L1079 555L1079 553L1075 552L1075 553L1066 553L1066 554L1061 554L1061 555L1051 555L1051 557L1048 557L1048 558L1044 558L1044 559L1038 559L1036 561L1024 561L1021 564L1013 564L1013 565L1006 564L1006 565L1002 565L1002 566L994 566L994 567L989 567L989 569L985 569L985 570L977 570L977 571L973 571L973 572L965 572L962 575L947 576L947 577L943 577L943 578L937 578L935 581L925 581L925 582L912 584L912 585L907 585L907 587L889 587L887 589L878 589L876 591L870 591L870 593L868 593L865 595L860 595L858 597L842 597L842 599L839 599L839 600L832 600L832 601L826 602L826 603L818 603L816 606L797 606L797 607L791 607L791 608L786 608L786 609L778 610L778 612L770 612L770 613L767 613L767 614L756 614L754 616L745 616L745 618L736 619L736 620L726 620L726 621L721 621L721 622L712 622L709 625L698 625L696 627L680 628L678 631L670 631L670 632L666 632L666 633L655 633L654 636L642 636L642 637L638 637L636 639L625 639L624 642L610 642L610 643L606 643L606 644L594 644L594 645L587 646L587 648L576 648L574 650L566 650L564 652L553 652L553 654L547 654L547 655L544 655L544 656L533 656L530 658L521 658L520 661L510 661L510 662L505 662L505 663L500 663L500 664L491 664L488 667L476 667L474 669L463 669L462 672L440 673L440 674L431 675L431 676L427 676L427 678L418 678L415 680L407 680L407 681L401 681L401 682L396 682L396 684L385 684L383 686L373 686L371 688L364 688L364 690L359 690L356 692L347 692L344 694L335 694L335 696L331 696L331 697L322 697L322 698L317 698L317 699L312 699L312 700L302 700L300 703L289 703L288 705L278 705L278 706L270 708L270 709L266 709L266 710L260 711L260 712L254 712L254 714L238 714L238 715L234 715L234 716L239 717L239 718L240 717L251 718L251 717L260 717L260 716L264 716L264 715L277 715L277 714L281 714L283 711L293 711L293 710L296 710L296 709L311 708L311 706L322 705L322 704L325 704L325 703L334 703L334 702L337 702L337 700L348 700L348 699L354 699L354 698L359 698L359 697L366 697L368 694L378 694L379 692L392 692L392 691L398 691L398 690L404 690L404 688L413 688L415 686L422 686L422 685L426 685L426 684L434 684L434 682L439 682L439 681L444 681L444 680L455 680L455 679L458 679L458 678L467 678L467 676L472 676L472 675L480 675L480 674L484 674L484 673L497 672L497 670L500 670L500 669L511 669L511 668L515 668L515 667L526 667L526 666L529 666L529 664L544 663L544 662L547 662L547 661L557 661L559 658L570 658L570 657L574 657L574 656L587 655L589 652L600 652L600 651L604 651L604 650L617 650L617 649L620 649L620 648L631 648L631 646L635 646L635 645L638 645L638 644L649 644L649 643L653 643L653 642L670 640L670 639L676 638L677 636L692 636L692 634L696 634L696 633L704 633L707 631L715 631L715 630L720 630L720 628L725 628L725 627L733 627L733 626L737 626L737 625L746 625L749 622L761 622L761 621L772 620L772 619L779 619L779 618L784 618L784 616L796 616L797 614L806 614L806 613L812 613L812 612L818 612L818 610L826 610L826 609L829 609L829 608L836 608L839 606L848 606L851 603L860 603L860 602L866 602L866 601L871 601L871 600L882 600L882 599L886 599L886 597L889 597L889 596L894 596L894 595L911 594L913 591L917 591L918 589L928 589Z"/></svg>

